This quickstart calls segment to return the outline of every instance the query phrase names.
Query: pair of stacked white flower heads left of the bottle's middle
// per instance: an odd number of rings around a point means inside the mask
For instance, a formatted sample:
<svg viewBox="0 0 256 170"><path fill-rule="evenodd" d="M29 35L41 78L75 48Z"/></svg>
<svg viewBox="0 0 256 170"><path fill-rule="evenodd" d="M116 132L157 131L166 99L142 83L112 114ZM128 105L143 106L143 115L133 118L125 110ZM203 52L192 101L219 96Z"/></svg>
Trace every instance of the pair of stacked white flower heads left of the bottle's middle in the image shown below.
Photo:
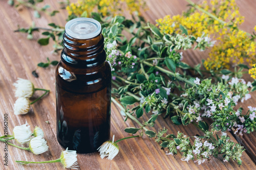
<svg viewBox="0 0 256 170"><path fill-rule="evenodd" d="M29 98L34 93L34 85L31 81L20 78L13 85L15 86L15 96L18 98L14 103L14 114L26 114L30 109Z"/></svg>

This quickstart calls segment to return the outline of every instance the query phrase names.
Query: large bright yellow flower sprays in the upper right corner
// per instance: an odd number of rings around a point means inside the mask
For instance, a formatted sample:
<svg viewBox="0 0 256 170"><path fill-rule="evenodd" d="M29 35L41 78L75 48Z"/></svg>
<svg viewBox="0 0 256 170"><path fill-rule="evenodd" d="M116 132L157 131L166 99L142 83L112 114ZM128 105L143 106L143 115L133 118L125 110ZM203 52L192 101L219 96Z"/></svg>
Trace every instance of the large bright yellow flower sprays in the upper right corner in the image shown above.
<svg viewBox="0 0 256 170"><path fill-rule="evenodd" d="M182 34L182 25L189 35L196 38L203 33L216 38L218 44L212 47L209 58L204 62L208 70L228 68L231 63L255 63L256 44L246 32L238 29L244 17L240 15L235 0L212 0L210 3L204 1L198 6L204 11L192 7L182 15L167 15L158 19L157 26L165 34ZM256 31L256 27L254 30Z"/></svg>

